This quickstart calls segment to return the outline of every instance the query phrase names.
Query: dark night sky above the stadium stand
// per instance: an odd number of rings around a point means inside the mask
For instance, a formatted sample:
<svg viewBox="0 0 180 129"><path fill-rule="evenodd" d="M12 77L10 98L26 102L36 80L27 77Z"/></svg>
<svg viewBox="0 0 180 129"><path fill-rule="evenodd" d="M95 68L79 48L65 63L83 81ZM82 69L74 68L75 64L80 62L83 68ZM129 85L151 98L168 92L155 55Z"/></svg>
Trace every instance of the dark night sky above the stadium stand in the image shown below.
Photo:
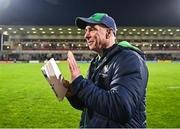
<svg viewBox="0 0 180 129"><path fill-rule="evenodd" d="M74 25L95 12L118 26L180 26L180 0L0 0L1 25Z"/></svg>

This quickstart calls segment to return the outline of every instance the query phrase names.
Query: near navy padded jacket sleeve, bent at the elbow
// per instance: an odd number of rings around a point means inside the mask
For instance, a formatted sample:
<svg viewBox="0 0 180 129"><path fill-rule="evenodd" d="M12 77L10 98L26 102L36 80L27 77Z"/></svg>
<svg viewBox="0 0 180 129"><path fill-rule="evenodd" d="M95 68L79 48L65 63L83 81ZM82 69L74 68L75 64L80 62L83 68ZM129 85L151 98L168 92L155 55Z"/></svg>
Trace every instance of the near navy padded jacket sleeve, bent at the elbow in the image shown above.
<svg viewBox="0 0 180 129"><path fill-rule="evenodd" d="M110 90L105 91L82 76L73 81L72 90L87 108L108 119L126 123L144 97L147 78L143 76L147 71L143 61L135 54L118 60L114 64Z"/></svg>

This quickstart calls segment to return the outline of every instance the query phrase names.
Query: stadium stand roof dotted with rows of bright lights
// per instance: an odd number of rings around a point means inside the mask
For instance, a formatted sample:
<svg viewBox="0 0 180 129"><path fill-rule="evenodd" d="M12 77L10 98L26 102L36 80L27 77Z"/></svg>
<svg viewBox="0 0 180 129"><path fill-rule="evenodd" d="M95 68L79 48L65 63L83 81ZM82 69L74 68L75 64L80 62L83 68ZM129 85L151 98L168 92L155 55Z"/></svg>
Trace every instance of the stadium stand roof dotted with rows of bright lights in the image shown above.
<svg viewBox="0 0 180 129"><path fill-rule="evenodd" d="M75 26L9 26L0 25L0 33L4 35L80 35L83 38L84 30ZM178 27L119 27L117 37L180 37Z"/></svg>

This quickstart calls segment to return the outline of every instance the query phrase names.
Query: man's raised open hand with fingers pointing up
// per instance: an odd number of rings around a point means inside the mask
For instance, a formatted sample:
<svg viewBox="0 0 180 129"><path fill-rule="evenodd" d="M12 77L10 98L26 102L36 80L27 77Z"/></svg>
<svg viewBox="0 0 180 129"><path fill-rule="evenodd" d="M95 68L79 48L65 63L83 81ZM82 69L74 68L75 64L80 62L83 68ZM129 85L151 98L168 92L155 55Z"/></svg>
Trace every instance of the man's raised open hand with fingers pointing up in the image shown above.
<svg viewBox="0 0 180 129"><path fill-rule="evenodd" d="M69 69L71 72L71 81L74 81L79 75L81 75L81 72L71 51L68 51L67 57Z"/></svg>

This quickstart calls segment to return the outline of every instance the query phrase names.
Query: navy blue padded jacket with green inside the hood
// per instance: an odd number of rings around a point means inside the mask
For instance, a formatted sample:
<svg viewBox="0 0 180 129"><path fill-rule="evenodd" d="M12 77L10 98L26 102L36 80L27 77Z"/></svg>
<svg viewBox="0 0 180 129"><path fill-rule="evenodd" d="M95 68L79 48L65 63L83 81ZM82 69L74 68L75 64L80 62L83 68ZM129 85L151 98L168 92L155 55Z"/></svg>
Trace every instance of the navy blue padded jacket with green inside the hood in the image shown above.
<svg viewBox="0 0 180 129"><path fill-rule="evenodd" d="M117 44L90 64L87 79L72 82L71 105L82 110L80 127L145 128L148 70L143 54Z"/></svg>

